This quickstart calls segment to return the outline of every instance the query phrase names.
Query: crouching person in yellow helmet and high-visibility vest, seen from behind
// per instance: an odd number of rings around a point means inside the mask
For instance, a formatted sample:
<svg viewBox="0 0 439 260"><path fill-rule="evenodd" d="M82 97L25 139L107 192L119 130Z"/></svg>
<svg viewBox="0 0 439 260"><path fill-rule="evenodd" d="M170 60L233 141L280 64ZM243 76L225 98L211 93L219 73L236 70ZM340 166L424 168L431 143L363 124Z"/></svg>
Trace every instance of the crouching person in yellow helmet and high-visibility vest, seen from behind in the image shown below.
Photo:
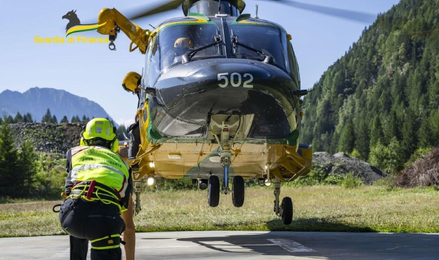
<svg viewBox="0 0 439 260"><path fill-rule="evenodd" d="M86 260L88 241L93 260L120 260L120 244L126 259L134 259L132 177L115 153L117 143L112 123L94 118L81 132L80 146L67 151L67 199L59 218L70 234L70 259Z"/></svg>

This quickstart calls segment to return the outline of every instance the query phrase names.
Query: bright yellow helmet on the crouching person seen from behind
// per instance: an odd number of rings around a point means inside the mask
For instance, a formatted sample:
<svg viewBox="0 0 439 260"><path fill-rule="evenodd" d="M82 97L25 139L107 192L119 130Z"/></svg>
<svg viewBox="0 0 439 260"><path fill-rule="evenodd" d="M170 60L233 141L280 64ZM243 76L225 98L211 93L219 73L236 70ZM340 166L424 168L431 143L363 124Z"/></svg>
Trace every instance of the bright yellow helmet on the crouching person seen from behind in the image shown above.
<svg viewBox="0 0 439 260"><path fill-rule="evenodd" d="M80 145L104 146L112 151L117 151L116 127L105 118L93 118L81 132Z"/></svg>

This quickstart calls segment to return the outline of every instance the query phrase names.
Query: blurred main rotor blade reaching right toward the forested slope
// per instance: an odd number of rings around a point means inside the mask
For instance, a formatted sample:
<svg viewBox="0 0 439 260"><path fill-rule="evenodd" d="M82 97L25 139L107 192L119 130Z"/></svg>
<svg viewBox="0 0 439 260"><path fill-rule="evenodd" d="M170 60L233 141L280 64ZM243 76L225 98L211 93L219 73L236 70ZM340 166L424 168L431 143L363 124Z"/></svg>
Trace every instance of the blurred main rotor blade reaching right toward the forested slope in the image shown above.
<svg viewBox="0 0 439 260"><path fill-rule="evenodd" d="M373 14L366 14L364 12L355 12L355 11L343 10L338 8L329 8L327 6L313 5L311 3L299 3L297 1L287 1L287 0L264 0L264 1L275 1L278 3L283 3L285 5L290 5L294 8L300 8L311 12L318 12L320 14L327 14L330 16L340 17L357 22L373 23L377 19L377 16Z"/></svg>

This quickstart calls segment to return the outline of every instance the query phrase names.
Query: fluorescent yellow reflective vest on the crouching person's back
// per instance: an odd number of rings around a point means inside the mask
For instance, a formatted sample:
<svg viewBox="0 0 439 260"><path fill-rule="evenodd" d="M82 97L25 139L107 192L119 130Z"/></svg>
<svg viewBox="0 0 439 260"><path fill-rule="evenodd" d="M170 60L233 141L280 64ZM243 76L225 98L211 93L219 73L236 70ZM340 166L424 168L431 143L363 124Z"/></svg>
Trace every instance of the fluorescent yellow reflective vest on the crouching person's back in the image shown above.
<svg viewBox="0 0 439 260"><path fill-rule="evenodd" d="M96 181L115 189L121 198L128 187L128 167L117 153L102 146L71 149L71 182Z"/></svg>

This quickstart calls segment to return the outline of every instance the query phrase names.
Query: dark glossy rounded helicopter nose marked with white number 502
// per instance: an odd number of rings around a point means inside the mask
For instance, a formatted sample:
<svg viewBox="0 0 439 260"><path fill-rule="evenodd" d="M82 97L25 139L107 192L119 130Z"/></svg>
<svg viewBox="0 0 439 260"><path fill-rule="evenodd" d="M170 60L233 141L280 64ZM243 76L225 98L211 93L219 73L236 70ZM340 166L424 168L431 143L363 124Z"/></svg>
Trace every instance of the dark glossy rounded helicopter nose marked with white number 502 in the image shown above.
<svg viewBox="0 0 439 260"><path fill-rule="evenodd" d="M183 73L185 76L181 77ZM178 111L181 111L187 107L204 115L253 114L258 102L276 100L274 95L279 91L286 95L292 92L289 91L294 88L291 84L292 79L285 71L270 64L212 59L174 67L156 83L156 88L171 110L180 107Z"/></svg>

